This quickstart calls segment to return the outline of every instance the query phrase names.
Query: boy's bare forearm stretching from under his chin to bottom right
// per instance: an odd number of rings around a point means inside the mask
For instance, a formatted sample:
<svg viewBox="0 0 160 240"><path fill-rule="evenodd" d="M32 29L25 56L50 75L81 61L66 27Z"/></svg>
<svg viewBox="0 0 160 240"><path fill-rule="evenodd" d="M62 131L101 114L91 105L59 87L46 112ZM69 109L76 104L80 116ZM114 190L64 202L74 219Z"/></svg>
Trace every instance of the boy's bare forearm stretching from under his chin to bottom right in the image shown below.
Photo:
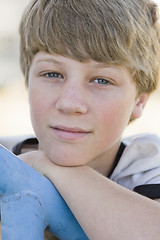
<svg viewBox="0 0 160 240"><path fill-rule="evenodd" d="M159 240L160 205L87 166L48 170L90 240Z"/></svg>

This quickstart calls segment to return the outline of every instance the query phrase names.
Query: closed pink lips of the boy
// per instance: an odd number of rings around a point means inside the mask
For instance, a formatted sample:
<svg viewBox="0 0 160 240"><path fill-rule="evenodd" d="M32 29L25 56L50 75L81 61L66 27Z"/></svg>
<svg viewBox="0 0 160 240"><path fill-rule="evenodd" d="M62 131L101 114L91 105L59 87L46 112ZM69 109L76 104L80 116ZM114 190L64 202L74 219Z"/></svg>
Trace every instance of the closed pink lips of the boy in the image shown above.
<svg viewBox="0 0 160 240"><path fill-rule="evenodd" d="M78 140L91 133L79 127L53 126L51 128L58 138L64 140Z"/></svg>

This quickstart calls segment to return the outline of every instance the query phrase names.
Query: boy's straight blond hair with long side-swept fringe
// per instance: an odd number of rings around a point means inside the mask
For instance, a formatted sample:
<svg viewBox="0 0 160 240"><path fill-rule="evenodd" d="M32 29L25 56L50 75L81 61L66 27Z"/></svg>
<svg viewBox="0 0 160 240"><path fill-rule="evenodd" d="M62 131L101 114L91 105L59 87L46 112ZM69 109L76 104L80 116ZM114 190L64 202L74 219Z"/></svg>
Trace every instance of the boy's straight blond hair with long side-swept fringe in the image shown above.
<svg viewBox="0 0 160 240"><path fill-rule="evenodd" d="M39 51L126 66L138 92L158 84L158 7L150 0L34 0L20 23L20 62L28 81Z"/></svg>

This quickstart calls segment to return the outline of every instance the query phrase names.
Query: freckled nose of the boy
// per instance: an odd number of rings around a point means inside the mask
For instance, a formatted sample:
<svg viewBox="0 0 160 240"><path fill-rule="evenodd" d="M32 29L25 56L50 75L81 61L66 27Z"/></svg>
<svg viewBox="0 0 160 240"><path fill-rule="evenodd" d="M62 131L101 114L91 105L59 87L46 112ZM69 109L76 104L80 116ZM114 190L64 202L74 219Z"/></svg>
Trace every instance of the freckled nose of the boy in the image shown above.
<svg viewBox="0 0 160 240"><path fill-rule="evenodd" d="M65 114L85 114L88 109L84 89L78 85L67 85L57 98L56 108Z"/></svg>

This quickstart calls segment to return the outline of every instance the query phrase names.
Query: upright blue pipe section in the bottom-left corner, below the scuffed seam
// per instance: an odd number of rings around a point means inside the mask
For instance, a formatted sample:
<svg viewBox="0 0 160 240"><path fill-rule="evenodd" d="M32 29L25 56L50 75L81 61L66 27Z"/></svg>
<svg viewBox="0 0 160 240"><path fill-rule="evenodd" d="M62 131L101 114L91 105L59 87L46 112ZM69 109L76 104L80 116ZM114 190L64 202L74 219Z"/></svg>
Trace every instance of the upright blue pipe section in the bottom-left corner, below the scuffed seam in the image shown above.
<svg viewBox="0 0 160 240"><path fill-rule="evenodd" d="M44 211L36 195L21 192L2 201L2 239L44 239Z"/></svg>

